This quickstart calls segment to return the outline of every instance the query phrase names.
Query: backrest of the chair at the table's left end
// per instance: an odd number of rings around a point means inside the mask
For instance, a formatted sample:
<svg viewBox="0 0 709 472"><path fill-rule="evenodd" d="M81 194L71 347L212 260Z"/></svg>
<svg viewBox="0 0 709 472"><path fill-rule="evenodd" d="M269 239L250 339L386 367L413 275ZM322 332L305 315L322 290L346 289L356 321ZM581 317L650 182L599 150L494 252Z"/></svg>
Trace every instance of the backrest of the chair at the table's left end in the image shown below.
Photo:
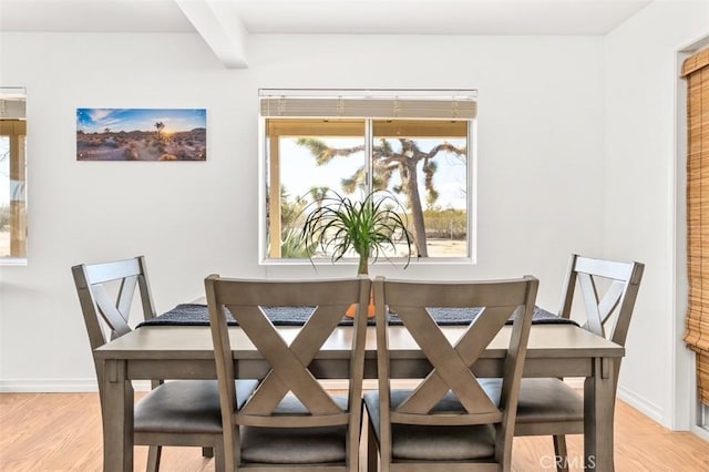
<svg viewBox="0 0 709 472"><path fill-rule="evenodd" d="M144 319L155 317L143 256L102 264L80 264L71 270L92 351L131 331L129 315L136 287L141 294ZM115 298L109 287L112 285L117 286ZM101 392L103 369L95 357L94 368Z"/></svg>

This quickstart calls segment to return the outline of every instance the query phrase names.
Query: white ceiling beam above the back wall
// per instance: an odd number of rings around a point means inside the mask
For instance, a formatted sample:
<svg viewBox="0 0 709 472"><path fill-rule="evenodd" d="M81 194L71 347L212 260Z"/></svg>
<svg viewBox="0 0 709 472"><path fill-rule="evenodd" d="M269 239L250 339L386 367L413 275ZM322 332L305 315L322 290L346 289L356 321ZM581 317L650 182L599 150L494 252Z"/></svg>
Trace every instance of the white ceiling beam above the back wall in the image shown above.
<svg viewBox="0 0 709 472"><path fill-rule="evenodd" d="M214 54L227 69L246 69L248 32L229 2L175 0Z"/></svg>

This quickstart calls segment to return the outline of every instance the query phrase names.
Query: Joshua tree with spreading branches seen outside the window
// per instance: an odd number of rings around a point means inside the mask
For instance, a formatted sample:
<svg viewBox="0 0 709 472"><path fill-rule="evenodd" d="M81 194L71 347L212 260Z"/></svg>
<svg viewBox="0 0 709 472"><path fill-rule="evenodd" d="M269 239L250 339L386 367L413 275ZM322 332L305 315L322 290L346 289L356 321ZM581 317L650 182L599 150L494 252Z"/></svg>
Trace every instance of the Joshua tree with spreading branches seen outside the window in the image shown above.
<svg viewBox="0 0 709 472"><path fill-rule="evenodd" d="M401 185L394 186L393 192L407 196L407 204L411 211L411 219L413 223L413 238L419 248L419 255L421 257L428 257L423 206L419 191L419 172L422 172L425 177L427 203L432 205L439 197L439 193L433 185L433 175L436 171L435 157L440 153L453 153L459 156L465 156L466 150L444 142L433 146L429 152L423 152L413 138L400 137L398 140L401 150L394 150L391 145L392 143L383 137L372 146L374 167L372 179L373 189L388 188L391 177L397 173L399 174ZM348 148L329 147L323 141L314 137L300 137L297 144L307 147L315 156L318 165L325 165L333 157L348 157L364 150L363 145ZM366 175L367 167L363 165L351 176L341 179L342 189L347 193L352 193L358 186L366 185Z"/></svg>

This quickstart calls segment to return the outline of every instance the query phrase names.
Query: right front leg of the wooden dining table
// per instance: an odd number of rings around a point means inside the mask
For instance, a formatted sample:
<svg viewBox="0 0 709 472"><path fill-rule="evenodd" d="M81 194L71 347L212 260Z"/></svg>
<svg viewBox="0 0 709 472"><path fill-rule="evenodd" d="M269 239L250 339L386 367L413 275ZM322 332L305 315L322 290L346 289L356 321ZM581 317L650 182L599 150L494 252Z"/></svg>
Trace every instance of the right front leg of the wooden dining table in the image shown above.
<svg viewBox="0 0 709 472"><path fill-rule="evenodd" d="M584 461L586 470L612 472L615 374L612 359L594 359L584 382Z"/></svg>

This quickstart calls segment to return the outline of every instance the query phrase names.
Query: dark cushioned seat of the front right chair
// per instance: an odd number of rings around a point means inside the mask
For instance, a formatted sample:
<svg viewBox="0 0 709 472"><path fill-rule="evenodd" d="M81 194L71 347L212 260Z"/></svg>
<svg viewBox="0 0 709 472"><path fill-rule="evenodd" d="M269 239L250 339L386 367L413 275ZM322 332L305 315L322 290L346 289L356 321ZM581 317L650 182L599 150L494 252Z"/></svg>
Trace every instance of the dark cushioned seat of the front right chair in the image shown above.
<svg viewBox="0 0 709 472"><path fill-rule="evenodd" d="M391 408L398 408L411 390L392 390ZM456 407L458 404L458 407ZM364 393L364 406L380 440L379 391ZM449 393L433 411L464 411ZM475 425L391 425L391 452L398 460L465 461L491 458L495 451L495 428L492 424Z"/></svg>

